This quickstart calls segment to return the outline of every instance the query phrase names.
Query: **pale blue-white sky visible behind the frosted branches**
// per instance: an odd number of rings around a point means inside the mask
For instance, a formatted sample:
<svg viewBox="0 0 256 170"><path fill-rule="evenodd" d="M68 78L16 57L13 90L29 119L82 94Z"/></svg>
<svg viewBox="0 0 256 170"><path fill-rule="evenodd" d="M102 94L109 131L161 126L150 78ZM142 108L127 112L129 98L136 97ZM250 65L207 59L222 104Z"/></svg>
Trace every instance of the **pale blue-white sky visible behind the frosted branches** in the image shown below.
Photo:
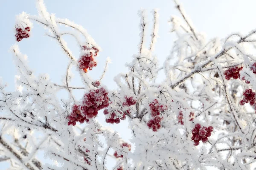
<svg viewBox="0 0 256 170"><path fill-rule="evenodd" d="M196 30L205 32L209 39L224 38L232 32L246 34L256 28L256 0L180 1ZM154 53L159 57L160 63L169 55L172 42L176 39L174 34L169 33L172 27L167 23L171 15L180 16L172 0L44 0L44 2L48 11L55 13L56 17L68 18L86 28L102 48L102 52L96 58L98 66L88 72L91 77L99 79L106 58L111 58L112 63L102 80L109 89L116 88L113 77L119 72L126 72L125 62L130 61L132 54L138 53L140 18L137 11L139 9L148 10L149 24L146 33L148 40L150 40L152 29L151 10L160 9L158 33L160 38L157 39ZM37 14L35 0L0 0L0 77L8 83L10 91L15 89L16 69L9 48L16 43L15 16L22 11ZM68 58L55 40L51 40L44 34L44 28L34 23L31 37L18 42L20 51L28 55L29 66L35 74L48 73L53 82L60 84L67 69ZM72 38L65 38L65 40L76 58L79 58L79 48L75 40ZM81 85L79 76L74 75L73 85ZM65 96L66 93L62 92L60 96ZM80 99L83 93L83 91L76 92L77 99ZM99 116L99 120L103 122L104 117ZM120 135L125 141L131 137L126 123L111 125L111 128L121 129ZM0 170L5 170L6 167L8 164L0 163Z"/></svg>

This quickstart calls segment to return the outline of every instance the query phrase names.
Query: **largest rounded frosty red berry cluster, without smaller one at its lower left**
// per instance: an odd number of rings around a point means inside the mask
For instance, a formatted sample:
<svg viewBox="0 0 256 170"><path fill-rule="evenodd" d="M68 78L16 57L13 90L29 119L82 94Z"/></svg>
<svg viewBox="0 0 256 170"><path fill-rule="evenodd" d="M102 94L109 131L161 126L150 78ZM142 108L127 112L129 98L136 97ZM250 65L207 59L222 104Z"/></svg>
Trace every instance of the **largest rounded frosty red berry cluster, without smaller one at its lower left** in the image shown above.
<svg viewBox="0 0 256 170"><path fill-rule="evenodd" d="M81 113L88 119L97 116L98 111L108 107L109 98L105 88L90 90L88 94L84 94L83 105L81 105Z"/></svg>

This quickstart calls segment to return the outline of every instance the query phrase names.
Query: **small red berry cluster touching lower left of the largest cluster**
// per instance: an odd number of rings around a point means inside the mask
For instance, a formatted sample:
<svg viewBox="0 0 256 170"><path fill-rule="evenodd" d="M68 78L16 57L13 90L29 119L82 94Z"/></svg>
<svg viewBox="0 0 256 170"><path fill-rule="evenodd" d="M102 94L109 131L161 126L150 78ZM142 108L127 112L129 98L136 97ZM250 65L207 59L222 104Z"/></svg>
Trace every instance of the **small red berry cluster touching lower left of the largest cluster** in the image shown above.
<svg viewBox="0 0 256 170"><path fill-rule="evenodd" d="M67 125L75 126L76 122L84 123L89 122L89 119L87 119L86 116L83 116L80 111L79 105L73 105L72 111L70 113L70 116L67 117L69 119L69 122L67 122Z"/></svg>

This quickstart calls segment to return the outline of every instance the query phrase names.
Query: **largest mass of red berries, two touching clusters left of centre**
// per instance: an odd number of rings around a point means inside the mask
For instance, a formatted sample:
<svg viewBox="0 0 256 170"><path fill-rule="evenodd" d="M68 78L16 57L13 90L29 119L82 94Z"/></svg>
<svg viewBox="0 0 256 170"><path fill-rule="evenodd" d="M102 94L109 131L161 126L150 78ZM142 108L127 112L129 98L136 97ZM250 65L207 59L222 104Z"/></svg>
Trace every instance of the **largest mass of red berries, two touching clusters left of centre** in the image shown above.
<svg viewBox="0 0 256 170"><path fill-rule="evenodd" d="M84 94L82 105L74 105L70 113L68 125L76 125L76 122L89 122L89 119L98 115L98 111L108 107L109 98L105 88L90 90L88 94ZM82 114L81 114L82 113Z"/></svg>

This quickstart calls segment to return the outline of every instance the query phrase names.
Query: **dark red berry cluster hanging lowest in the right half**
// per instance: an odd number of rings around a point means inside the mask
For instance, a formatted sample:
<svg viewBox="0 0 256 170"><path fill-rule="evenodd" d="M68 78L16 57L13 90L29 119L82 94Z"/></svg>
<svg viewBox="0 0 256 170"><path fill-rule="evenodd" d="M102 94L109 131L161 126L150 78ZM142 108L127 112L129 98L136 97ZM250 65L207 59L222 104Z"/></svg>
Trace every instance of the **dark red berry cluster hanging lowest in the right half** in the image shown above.
<svg viewBox="0 0 256 170"><path fill-rule="evenodd" d="M192 139L194 141L194 145L197 146L199 141L202 140L203 143L208 141L208 138L212 135L213 127L201 127L199 123L195 124L194 129L192 129Z"/></svg>

